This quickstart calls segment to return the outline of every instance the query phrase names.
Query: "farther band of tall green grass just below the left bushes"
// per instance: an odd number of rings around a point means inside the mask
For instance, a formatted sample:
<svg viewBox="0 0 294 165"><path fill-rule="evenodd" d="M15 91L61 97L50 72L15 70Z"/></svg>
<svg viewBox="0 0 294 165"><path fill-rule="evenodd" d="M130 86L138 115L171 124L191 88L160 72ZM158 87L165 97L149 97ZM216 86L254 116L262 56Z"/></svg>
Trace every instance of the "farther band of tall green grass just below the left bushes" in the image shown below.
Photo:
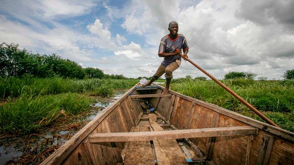
<svg viewBox="0 0 294 165"><path fill-rule="evenodd" d="M32 94L62 94L62 93L91 93L108 96L114 94L114 90L128 89L138 83L138 80L117 79L65 79L52 78L0 78L0 98L18 97L22 90Z"/></svg>

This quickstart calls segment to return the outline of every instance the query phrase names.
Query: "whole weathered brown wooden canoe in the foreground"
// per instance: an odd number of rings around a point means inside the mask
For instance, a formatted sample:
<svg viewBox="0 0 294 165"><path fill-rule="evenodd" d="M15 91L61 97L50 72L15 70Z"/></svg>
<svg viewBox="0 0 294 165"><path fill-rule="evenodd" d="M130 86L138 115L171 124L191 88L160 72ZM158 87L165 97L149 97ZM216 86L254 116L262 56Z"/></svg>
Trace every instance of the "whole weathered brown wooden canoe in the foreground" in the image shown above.
<svg viewBox="0 0 294 165"><path fill-rule="evenodd" d="M294 133L163 89L132 87L41 165L293 164Z"/></svg>

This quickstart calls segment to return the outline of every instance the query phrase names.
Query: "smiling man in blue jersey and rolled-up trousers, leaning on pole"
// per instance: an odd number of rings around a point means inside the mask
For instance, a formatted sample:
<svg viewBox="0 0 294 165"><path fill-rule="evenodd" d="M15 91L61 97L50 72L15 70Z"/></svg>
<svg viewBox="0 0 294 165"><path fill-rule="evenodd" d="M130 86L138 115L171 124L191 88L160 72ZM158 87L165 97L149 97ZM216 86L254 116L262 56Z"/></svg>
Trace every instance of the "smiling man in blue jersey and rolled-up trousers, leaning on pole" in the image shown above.
<svg viewBox="0 0 294 165"><path fill-rule="evenodd" d="M170 34L167 34L161 39L158 49L158 56L164 57L164 60L158 67L156 73L152 76L151 80L143 85L143 87L151 85L153 81L157 80L157 78L165 73L166 86L162 92L163 94L169 93L172 71L176 70L181 65L181 55L184 59L188 58L187 53L189 50L185 36L177 33L179 29L178 24L172 21L169 24L168 29ZM184 54L181 54L182 49Z"/></svg>

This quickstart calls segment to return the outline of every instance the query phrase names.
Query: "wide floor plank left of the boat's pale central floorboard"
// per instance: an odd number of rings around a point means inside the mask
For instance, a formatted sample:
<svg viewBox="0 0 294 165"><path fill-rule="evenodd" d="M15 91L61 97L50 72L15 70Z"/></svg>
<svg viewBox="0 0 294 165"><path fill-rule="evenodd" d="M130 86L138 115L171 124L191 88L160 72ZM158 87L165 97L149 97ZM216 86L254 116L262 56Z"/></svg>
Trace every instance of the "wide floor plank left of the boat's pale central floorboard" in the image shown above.
<svg viewBox="0 0 294 165"><path fill-rule="evenodd" d="M148 131L148 127L135 126L133 131ZM154 165L150 141L133 141L126 151L124 165Z"/></svg>

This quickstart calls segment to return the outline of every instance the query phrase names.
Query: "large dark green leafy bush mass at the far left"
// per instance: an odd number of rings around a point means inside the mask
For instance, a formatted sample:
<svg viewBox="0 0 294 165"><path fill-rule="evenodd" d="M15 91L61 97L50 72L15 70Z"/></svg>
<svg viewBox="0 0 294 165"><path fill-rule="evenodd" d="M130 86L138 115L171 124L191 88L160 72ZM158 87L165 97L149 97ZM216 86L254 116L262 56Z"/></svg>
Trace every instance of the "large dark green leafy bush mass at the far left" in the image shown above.
<svg viewBox="0 0 294 165"><path fill-rule="evenodd" d="M86 72L77 63L65 60L56 54L40 55L19 49L17 44L0 45L0 77L18 76L25 74L35 77L85 77Z"/></svg>

